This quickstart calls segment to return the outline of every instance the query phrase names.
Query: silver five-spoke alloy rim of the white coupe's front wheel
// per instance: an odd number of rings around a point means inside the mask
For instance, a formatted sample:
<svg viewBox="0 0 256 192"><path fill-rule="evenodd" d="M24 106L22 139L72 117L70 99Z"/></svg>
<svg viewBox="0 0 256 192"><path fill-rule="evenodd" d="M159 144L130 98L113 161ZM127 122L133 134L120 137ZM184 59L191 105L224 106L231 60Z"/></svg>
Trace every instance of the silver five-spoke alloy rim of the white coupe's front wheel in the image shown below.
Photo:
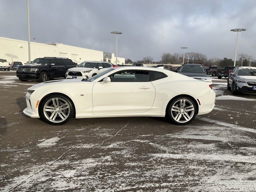
<svg viewBox="0 0 256 192"><path fill-rule="evenodd" d="M69 114L70 105L62 98L51 98L44 104L44 116L50 122L63 122Z"/></svg>

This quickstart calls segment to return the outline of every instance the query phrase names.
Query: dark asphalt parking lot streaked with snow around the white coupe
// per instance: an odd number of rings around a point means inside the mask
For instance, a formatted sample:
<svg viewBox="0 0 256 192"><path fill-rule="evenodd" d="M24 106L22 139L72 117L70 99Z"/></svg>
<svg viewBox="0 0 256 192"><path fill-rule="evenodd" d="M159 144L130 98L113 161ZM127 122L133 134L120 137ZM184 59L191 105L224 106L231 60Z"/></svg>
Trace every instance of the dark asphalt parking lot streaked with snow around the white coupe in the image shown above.
<svg viewBox="0 0 256 192"><path fill-rule="evenodd" d="M212 112L186 126L164 118L22 114L27 88L0 72L0 191L256 191L256 96L214 77ZM113 98L114 99L114 98Z"/></svg>

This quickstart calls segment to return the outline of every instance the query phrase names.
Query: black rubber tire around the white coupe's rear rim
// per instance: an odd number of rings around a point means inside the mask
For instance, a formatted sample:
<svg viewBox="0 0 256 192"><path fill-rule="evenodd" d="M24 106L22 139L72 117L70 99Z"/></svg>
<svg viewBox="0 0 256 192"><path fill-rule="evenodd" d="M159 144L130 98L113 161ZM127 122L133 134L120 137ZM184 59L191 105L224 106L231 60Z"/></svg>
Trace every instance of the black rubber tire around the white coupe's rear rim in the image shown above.
<svg viewBox="0 0 256 192"><path fill-rule="evenodd" d="M176 121L174 118L173 118L173 115L177 115L179 112L176 112L176 114L172 114L172 107L174 106L174 104L179 101L179 100L188 100L194 107L194 113L192 114L191 112L191 119L187 122L178 122ZM181 112L180 112L181 113ZM168 120L170 120L171 122L173 122L174 124L177 124L177 125L186 125L190 122L192 122L194 120L194 118L196 117L196 114L197 114L197 105L196 103L189 97L186 97L186 96L181 96L181 97L177 97L175 99L173 99L167 106L166 108L166 118ZM182 115L181 115L182 116ZM184 118L184 117L182 117Z"/></svg>

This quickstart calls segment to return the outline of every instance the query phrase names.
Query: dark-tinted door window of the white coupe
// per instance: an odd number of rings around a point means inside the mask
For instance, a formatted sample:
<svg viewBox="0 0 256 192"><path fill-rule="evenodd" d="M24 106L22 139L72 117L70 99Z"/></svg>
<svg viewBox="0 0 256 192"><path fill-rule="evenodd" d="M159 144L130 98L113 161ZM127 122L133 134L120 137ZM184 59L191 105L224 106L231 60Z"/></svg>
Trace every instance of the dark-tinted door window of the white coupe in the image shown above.
<svg viewBox="0 0 256 192"><path fill-rule="evenodd" d="M110 76L111 82L148 82L148 71L121 71Z"/></svg>

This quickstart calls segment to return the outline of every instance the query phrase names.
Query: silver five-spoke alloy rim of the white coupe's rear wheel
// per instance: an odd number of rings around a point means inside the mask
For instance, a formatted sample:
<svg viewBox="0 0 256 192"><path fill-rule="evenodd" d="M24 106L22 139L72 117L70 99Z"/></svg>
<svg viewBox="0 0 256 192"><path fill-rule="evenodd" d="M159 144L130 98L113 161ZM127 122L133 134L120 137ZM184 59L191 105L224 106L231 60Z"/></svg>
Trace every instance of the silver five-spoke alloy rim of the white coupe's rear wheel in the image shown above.
<svg viewBox="0 0 256 192"><path fill-rule="evenodd" d="M186 123L194 116L195 108L187 99L176 101L171 108L172 118L179 123Z"/></svg>

